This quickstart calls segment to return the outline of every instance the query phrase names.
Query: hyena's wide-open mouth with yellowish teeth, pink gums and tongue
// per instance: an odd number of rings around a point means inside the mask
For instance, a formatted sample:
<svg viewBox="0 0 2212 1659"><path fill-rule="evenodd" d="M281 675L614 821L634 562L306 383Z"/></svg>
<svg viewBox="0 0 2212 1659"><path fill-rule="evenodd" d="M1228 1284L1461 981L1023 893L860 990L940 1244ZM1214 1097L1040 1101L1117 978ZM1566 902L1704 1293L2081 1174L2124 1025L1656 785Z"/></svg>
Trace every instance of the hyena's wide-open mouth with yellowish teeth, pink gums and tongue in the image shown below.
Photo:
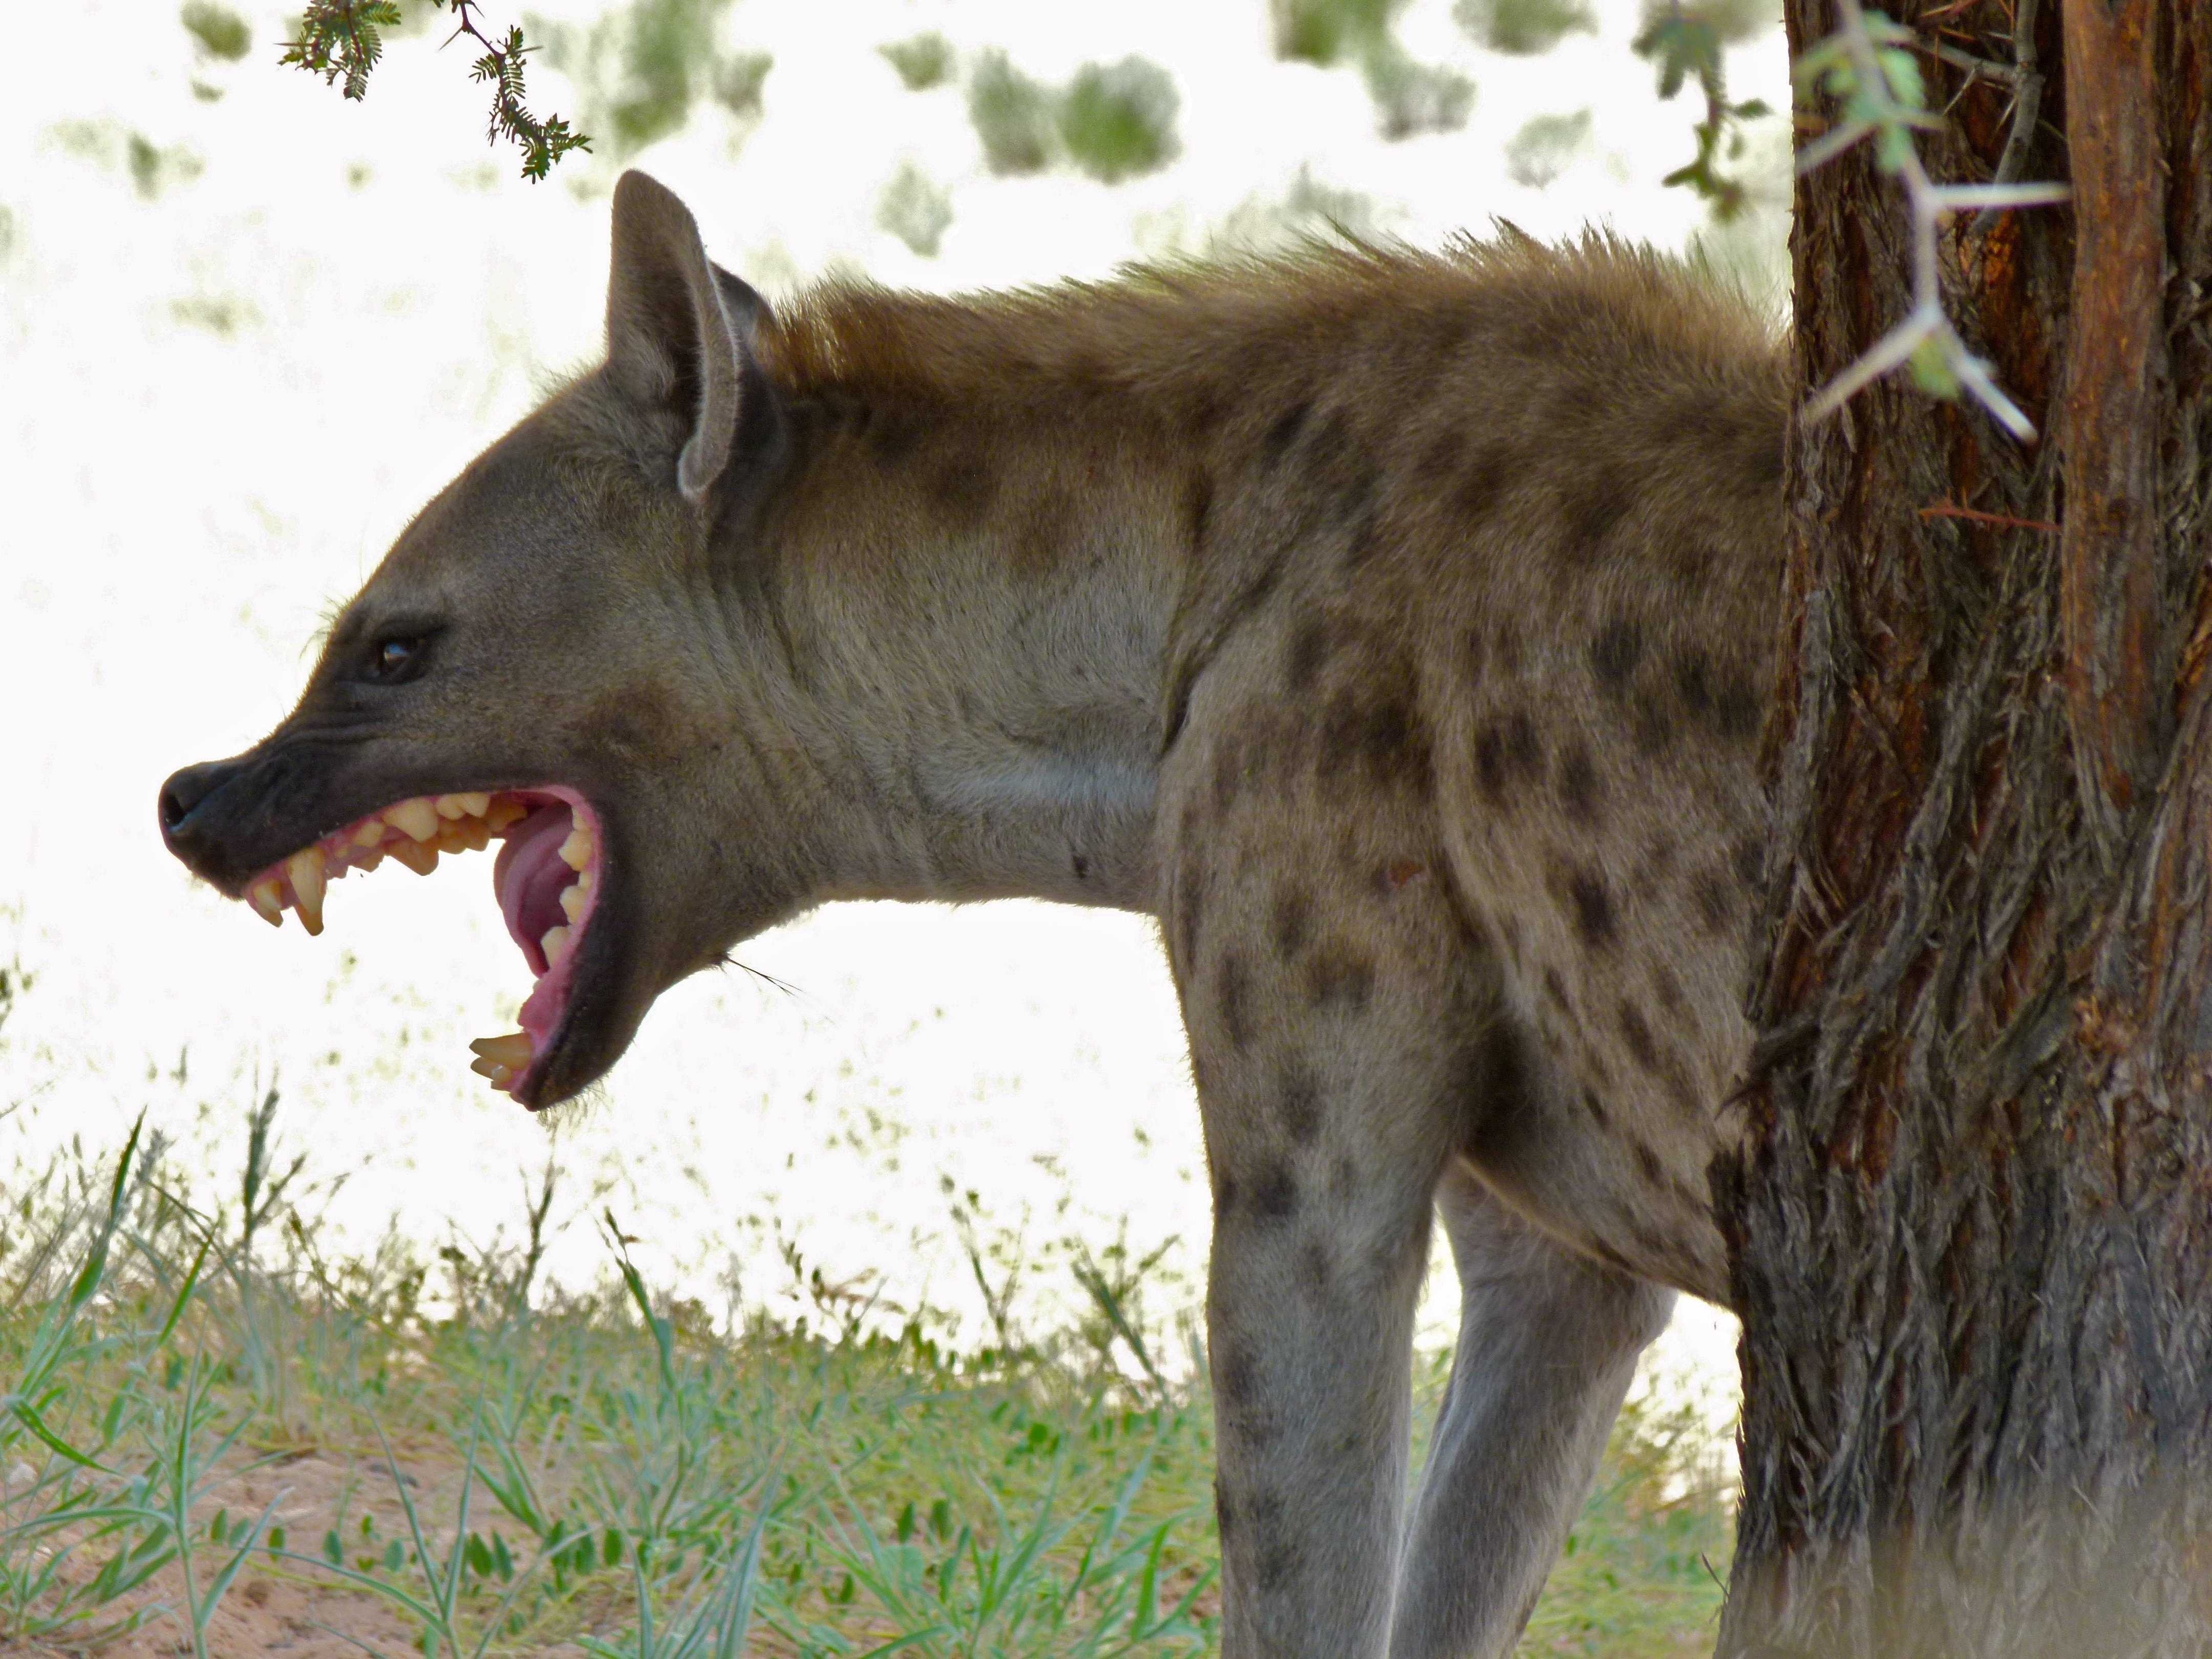
<svg viewBox="0 0 2212 1659"><path fill-rule="evenodd" d="M482 852L502 841L491 865L507 931L522 947L538 984L522 1004L522 1031L469 1044L469 1071L518 1099L562 1035L575 987L575 960L599 905L606 836L582 794L562 785L462 794L418 794L332 830L246 883L246 902L272 927L296 909L307 933L323 931L323 891L341 876L396 858L418 876L440 854Z"/></svg>

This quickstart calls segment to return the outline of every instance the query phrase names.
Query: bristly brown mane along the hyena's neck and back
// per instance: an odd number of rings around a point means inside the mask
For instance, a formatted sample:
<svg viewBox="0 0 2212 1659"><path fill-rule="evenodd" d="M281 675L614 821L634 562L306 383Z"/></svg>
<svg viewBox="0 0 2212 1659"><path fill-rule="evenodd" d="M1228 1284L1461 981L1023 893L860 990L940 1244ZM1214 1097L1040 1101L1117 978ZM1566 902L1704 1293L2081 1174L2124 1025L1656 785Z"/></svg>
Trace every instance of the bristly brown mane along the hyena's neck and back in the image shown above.
<svg viewBox="0 0 2212 1659"><path fill-rule="evenodd" d="M1137 394L1221 407L1254 369L1274 378L1318 347L1431 352L1440 334L1482 332L1573 349L1577 330L1736 365L1776 349L1772 325L1699 261L1601 230L1553 248L1504 226L1438 252L1316 241L951 299L832 279L776 305L761 354L801 398L1035 411Z"/></svg>

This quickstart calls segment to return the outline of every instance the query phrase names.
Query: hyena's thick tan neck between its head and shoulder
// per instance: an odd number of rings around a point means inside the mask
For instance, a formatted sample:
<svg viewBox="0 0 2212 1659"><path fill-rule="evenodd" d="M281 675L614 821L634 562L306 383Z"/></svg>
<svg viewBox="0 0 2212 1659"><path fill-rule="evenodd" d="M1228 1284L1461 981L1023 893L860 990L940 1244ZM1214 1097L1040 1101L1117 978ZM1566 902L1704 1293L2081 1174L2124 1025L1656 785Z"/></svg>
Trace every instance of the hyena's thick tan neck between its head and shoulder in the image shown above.
<svg viewBox="0 0 2212 1659"><path fill-rule="evenodd" d="M841 818L825 896L1152 909L1188 549L1146 422L852 380L785 396L761 604Z"/></svg>

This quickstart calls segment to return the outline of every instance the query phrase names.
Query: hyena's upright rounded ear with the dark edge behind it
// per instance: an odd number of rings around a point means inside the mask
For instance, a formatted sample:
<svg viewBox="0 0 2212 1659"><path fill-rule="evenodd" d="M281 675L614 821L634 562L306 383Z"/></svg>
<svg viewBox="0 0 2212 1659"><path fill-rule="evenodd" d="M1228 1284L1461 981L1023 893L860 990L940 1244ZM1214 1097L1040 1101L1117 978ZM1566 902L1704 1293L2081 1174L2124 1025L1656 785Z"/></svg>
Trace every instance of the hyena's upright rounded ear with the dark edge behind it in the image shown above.
<svg viewBox="0 0 2212 1659"><path fill-rule="evenodd" d="M752 303L732 316L741 296ZM690 502L703 502L728 467L739 422L752 414L748 394L765 389L759 365L748 363L757 305L745 283L708 263L699 226L675 192L644 173L622 175L606 372L639 409L690 427L677 453L677 489Z"/></svg>

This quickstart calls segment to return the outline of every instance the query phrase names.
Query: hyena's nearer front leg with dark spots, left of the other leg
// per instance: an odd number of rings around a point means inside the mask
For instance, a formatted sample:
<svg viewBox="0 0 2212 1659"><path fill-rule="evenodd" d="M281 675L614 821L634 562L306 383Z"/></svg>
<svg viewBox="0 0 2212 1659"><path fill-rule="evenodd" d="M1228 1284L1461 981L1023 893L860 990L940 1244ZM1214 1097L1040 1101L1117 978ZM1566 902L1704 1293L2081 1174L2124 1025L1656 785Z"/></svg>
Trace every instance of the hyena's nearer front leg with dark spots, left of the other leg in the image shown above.
<svg viewBox="0 0 2212 1659"><path fill-rule="evenodd" d="M1486 958L1418 821L1203 805L1170 818L1166 922L1214 1194L1223 1655L1376 1659Z"/></svg>

